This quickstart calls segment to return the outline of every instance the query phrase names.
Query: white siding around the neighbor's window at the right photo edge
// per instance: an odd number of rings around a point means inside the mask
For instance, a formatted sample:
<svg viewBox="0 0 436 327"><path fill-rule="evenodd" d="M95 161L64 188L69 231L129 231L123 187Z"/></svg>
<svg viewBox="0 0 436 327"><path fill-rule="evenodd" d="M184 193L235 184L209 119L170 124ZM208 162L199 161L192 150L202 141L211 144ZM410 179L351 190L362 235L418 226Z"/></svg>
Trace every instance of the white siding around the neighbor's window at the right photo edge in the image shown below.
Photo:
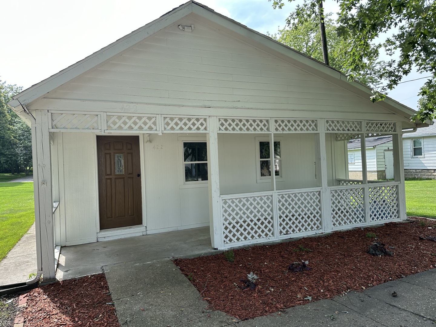
<svg viewBox="0 0 436 327"><path fill-rule="evenodd" d="M411 138L403 139L404 169L436 169L436 135L423 136L422 139L423 158L412 158Z"/></svg>

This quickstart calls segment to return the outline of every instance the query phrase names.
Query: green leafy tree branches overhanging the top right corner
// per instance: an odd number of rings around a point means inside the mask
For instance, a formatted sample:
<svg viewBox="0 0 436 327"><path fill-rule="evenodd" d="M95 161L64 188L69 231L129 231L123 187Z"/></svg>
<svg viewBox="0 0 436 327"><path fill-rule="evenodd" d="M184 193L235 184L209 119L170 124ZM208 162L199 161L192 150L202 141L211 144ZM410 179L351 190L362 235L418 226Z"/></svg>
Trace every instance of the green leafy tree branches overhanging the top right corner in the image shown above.
<svg viewBox="0 0 436 327"><path fill-rule="evenodd" d="M293 0L288 0L292 2ZM381 54L391 60L381 67L380 80L386 85L374 90L372 101L385 98L412 69L429 75L421 88L418 114L412 119L435 118L436 108L436 3L432 0L337 0L341 11L337 20L338 35L349 44L344 53L346 68L361 71L368 59ZM273 0L282 8L283 0ZM317 1L304 0L290 14L287 23L300 24L316 14ZM398 57L398 58L396 58Z"/></svg>

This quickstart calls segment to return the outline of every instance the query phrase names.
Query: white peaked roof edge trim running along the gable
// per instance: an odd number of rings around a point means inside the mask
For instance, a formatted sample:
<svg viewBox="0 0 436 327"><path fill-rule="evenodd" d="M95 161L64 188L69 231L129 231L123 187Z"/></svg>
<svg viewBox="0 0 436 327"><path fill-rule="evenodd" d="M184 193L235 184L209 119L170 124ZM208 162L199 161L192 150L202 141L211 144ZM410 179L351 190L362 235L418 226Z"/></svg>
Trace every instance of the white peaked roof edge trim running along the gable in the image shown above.
<svg viewBox="0 0 436 327"><path fill-rule="evenodd" d="M15 108L20 106L20 104L28 105L34 103L47 95L48 92L52 92L61 85L64 85L65 83L85 74L85 72L105 64L115 56L127 51L135 44L144 41L144 39L150 37L158 31L176 23L178 20L187 16L188 14L198 15L199 17L208 19L209 21L218 24L221 27L225 27L233 35L245 37L246 40L252 42L257 47L266 50L286 61L297 63L307 72L313 73L314 75L318 75L321 78L333 82L344 89L353 92L354 94L363 96L366 99L369 99L371 96L370 87L360 82L348 81L347 76L336 69L327 66L324 63L307 56L306 54L296 51L272 39L271 37L254 31L235 20L218 14L211 8L204 6L201 3L191 0L177 8L174 8L149 24L140 27L136 31L127 34L112 44L109 44L105 48L96 51L81 61L76 62L68 68L65 68L49 78L32 85L30 88L15 95L8 104ZM384 101L378 102L378 105L388 109L390 112L394 112L395 114L405 117L406 119L409 119L410 116L415 114L413 109L404 106L388 97L386 97ZM427 126L428 123L429 122L421 124L420 122L417 122L417 125ZM406 125L403 125L404 127L408 128L415 126L415 123L403 122L403 124Z"/></svg>

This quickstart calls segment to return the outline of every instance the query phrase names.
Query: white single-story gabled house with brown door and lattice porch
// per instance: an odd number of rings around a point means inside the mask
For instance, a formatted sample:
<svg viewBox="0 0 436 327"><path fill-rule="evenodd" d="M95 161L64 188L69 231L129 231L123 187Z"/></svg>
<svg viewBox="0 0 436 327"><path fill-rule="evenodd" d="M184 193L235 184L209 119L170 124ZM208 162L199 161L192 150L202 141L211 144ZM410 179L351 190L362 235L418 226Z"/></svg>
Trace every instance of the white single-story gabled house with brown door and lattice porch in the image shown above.
<svg viewBox="0 0 436 327"><path fill-rule="evenodd" d="M402 131L429 122L370 95L184 3L9 102L32 126L38 273L111 238L209 226L226 249L404 220ZM347 141L368 134L392 136L394 181L347 181Z"/></svg>

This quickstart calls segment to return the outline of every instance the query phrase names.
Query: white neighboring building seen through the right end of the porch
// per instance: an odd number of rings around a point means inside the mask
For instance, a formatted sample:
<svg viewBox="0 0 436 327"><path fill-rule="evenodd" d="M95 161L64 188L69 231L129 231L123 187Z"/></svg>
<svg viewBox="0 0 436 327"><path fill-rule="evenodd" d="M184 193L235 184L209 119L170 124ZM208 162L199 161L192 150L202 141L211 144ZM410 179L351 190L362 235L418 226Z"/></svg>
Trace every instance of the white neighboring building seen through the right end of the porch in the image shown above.
<svg viewBox="0 0 436 327"><path fill-rule="evenodd" d="M369 137L365 140L368 180L394 178L392 136ZM362 179L360 140L351 140L348 147L348 178Z"/></svg>

